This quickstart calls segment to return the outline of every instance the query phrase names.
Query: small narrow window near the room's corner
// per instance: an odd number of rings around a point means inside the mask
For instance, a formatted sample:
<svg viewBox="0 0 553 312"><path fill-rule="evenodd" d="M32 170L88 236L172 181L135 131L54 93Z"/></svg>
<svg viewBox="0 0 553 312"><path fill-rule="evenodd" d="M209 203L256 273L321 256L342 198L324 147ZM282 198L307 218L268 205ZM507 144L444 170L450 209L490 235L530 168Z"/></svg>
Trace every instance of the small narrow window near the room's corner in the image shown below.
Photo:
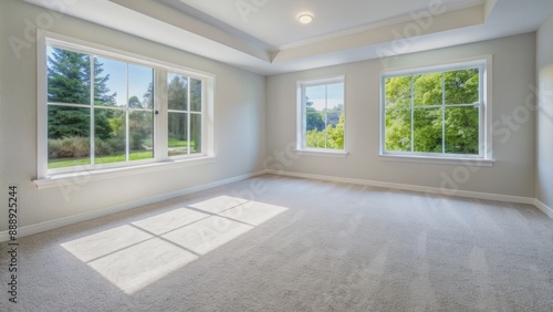
<svg viewBox="0 0 553 312"><path fill-rule="evenodd" d="M299 84L298 149L344 152L344 77Z"/></svg>

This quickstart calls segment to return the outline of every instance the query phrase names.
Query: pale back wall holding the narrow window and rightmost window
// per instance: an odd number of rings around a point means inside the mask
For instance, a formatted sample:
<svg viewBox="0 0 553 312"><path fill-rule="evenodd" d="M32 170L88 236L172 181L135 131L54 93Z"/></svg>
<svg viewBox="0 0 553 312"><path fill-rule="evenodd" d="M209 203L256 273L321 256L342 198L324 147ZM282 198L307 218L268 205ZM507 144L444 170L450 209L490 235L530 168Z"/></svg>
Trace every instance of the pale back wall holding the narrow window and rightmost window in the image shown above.
<svg viewBox="0 0 553 312"><path fill-rule="evenodd" d="M493 167L479 167L466 178L459 175L457 186L445 183L467 168L453 165L430 165L383 162L378 158L379 75L388 69L416 66L493 54L493 121L522 113L511 131L497 127L493 139ZM346 76L346 158L323 156L289 157L281 162L291 173L335 176L422 187L456 188L466 191L534 198L535 118L524 112L524 103L535 83L535 34L522 34L473 44L414 53L388 60L371 60L268 77L268 147L269 154L284 152L295 142L296 82L345 74ZM519 107L519 108L518 108ZM524 115L528 113L528 115ZM507 139L505 129L511 137ZM504 143L500 142L505 141ZM274 162L273 162L274 163ZM272 164L276 167L278 164ZM276 167L278 168L278 167Z"/></svg>

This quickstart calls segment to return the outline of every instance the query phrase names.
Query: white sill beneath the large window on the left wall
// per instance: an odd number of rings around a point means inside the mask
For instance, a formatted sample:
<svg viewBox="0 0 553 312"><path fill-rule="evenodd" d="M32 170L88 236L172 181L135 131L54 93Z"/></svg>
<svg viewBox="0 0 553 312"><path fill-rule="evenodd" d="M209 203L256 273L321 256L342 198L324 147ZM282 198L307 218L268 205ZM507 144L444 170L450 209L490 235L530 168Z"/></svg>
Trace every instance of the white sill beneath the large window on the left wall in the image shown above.
<svg viewBox="0 0 553 312"><path fill-rule="evenodd" d="M33 183L36 185L39 189L59 187L59 186L67 186L67 185L82 185L84 183L109 179L116 177L125 177L132 175L147 174L154 173L165 169L188 167L188 166L198 166L204 164L215 163L215 156L205 156L198 158L189 158L189 159L175 159L175 160L166 160L160 163L147 164L147 165L137 165L137 166L128 166L128 167L119 167L119 168L111 168L111 169L97 169L97 170L85 170L85 171L76 171L69 174L56 174L48 176L43 179L35 179Z"/></svg>

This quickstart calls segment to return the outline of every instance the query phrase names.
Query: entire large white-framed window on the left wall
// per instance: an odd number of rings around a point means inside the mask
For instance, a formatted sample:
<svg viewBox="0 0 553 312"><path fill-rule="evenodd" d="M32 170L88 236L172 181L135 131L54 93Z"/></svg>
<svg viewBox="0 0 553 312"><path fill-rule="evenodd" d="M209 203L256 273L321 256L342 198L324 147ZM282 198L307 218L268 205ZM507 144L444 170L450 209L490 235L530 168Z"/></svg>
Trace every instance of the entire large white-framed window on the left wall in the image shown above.
<svg viewBox="0 0 553 312"><path fill-rule="evenodd" d="M40 34L39 178L212 156L212 76Z"/></svg>

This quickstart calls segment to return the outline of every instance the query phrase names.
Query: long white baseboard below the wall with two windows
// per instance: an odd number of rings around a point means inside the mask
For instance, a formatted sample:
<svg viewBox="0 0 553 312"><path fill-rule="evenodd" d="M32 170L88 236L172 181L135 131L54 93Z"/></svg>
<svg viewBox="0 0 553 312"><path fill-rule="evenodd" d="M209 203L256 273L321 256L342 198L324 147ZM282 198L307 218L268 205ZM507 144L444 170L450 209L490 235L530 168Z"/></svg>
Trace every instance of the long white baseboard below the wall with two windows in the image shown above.
<svg viewBox="0 0 553 312"><path fill-rule="evenodd" d="M322 175L312 175L312 174L300 174L300 173L291 173L291 171L279 171L279 170L268 170L268 174L282 175L282 176L289 176L289 177L298 177L298 178L336 181L336 183L349 183L349 184L356 184L356 185L366 185L366 186L392 188L392 189L399 189L399 190L409 190L409 191L426 193L426 194L432 194L432 195L456 196L456 197L466 197L466 198L474 198L474 199L535 205L535 199L530 198L530 197L519 197L519 196L488 194L488 193L478 193L478 191L468 191L468 190L447 190L447 191L444 191L442 189L437 188L437 187L425 187L425 186L417 186L417 185L394 184L394 183L374 181L374 180L365 180L365 179L353 179L353 178L322 176Z"/></svg>

